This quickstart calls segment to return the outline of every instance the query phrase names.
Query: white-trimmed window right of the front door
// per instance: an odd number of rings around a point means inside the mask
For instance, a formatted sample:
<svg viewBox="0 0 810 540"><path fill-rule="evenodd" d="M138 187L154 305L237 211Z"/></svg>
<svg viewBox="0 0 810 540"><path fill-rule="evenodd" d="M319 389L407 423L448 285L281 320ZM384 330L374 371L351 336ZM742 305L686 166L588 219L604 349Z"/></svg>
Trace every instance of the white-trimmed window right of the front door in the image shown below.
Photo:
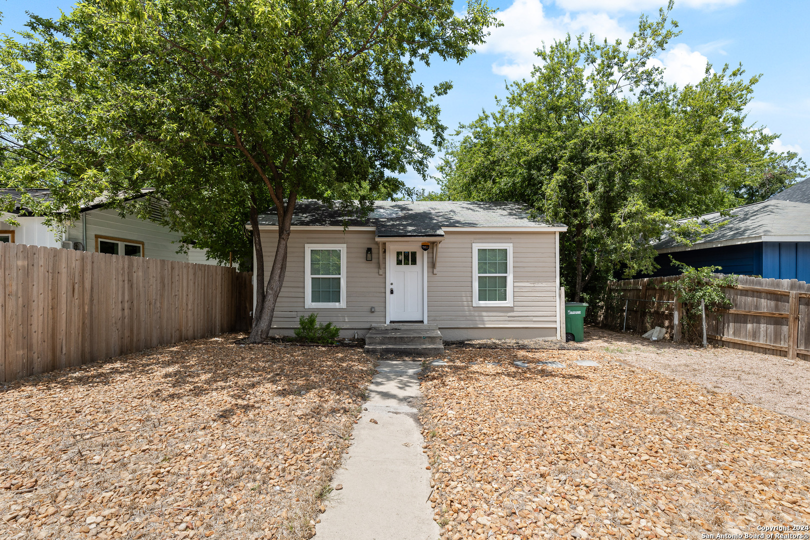
<svg viewBox="0 0 810 540"><path fill-rule="evenodd" d="M512 283L512 244L472 244L472 305L513 305Z"/></svg>

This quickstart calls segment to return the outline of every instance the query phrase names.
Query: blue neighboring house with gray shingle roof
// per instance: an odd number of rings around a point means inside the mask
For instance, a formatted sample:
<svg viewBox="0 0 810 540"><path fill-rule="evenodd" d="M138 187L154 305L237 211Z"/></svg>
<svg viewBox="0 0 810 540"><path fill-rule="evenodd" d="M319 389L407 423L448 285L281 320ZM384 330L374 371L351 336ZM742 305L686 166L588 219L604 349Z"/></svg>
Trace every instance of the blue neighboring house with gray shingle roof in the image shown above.
<svg viewBox="0 0 810 540"><path fill-rule="evenodd" d="M810 178L764 202L701 215L708 223L728 220L692 245L664 238L654 245L661 266L654 277L680 274L669 256L689 266L721 266L723 274L761 275L810 283Z"/></svg>

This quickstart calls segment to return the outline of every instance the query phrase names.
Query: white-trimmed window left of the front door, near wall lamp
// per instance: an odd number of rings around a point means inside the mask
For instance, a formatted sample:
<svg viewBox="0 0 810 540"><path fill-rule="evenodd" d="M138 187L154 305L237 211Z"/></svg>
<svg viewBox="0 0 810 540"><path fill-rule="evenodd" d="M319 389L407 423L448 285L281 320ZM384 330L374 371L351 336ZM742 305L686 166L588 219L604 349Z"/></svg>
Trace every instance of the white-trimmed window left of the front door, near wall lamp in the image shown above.
<svg viewBox="0 0 810 540"><path fill-rule="evenodd" d="M346 307L346 244L304 246L305 308Z"/></svg>

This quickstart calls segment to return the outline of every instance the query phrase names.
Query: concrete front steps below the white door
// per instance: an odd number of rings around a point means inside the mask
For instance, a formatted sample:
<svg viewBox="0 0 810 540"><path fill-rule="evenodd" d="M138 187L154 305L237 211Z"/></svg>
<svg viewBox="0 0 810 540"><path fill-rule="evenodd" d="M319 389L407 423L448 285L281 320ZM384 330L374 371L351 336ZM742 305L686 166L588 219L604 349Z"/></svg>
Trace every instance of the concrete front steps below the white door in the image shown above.
<svg viewBox="0 0 810 540"><path fill-rule="evenodd" d="M365 336L365 352L377 355L435 356L445 351L437 325L373 325Z"/></svg>

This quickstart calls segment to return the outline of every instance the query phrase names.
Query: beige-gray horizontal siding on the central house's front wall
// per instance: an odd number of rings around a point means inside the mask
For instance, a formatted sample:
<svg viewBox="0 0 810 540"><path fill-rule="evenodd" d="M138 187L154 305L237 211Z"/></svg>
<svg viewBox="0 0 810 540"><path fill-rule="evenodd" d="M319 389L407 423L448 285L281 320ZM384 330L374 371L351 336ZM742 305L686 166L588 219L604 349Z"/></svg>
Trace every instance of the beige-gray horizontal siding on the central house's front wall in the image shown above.
<svg viewBox="0 0 810 540"><path fill-rule="evenodd" d="M472 304L472 244L513 244L514 307ZM266 279L275 256L275 227L262 227ZM305 244L346 244L346 308L304 308ZM365 261L373 248L373 261ZM318 313L351 335L365 334L386 322L386 266L379 274L379 249L373 231L293 229L288 244L287 275L275 308L273 327L282 334L297 328L298 317ZM448 338L555 337L557 317L556 245L554 232L445 232L439 244L437 274L433 249L428 251L428 323ZM370 312L371 307L375 313ZM456 330L454 330L456 329Z"/></svg>

